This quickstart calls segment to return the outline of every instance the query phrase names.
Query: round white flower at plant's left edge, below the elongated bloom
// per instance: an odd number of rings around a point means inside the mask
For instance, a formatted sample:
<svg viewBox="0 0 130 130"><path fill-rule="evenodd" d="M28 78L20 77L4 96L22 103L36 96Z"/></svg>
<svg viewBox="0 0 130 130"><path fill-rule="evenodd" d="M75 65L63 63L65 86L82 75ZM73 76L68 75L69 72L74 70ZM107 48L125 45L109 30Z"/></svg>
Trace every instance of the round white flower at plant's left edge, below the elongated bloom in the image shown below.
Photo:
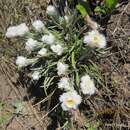
<svg viewBox="0 0 130 130"><path fill-rule="evenodd" d="M16 65L18 65L19 67L27 66L28 65L27 58L23 56L18 56L16 59Z"/></svg>

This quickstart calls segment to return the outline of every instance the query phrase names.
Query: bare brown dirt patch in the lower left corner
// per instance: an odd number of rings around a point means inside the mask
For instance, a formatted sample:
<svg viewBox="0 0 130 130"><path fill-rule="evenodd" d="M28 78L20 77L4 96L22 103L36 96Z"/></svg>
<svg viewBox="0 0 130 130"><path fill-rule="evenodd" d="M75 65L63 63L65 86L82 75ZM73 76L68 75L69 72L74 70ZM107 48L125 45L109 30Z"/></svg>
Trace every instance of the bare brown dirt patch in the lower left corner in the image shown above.
<svg viewBox="0 0 130 130"><path fill-rule="evenodd" d="M32 105L31 100L23 100L27 91L20 84L17 85L18 75L13 64L1 61L0 69L0 115L6 117L0 128L6 130L41 130L48 126L47 113L40 111L39 105ZM14 103L22 103L22 110L16 113Z"/></svg>

